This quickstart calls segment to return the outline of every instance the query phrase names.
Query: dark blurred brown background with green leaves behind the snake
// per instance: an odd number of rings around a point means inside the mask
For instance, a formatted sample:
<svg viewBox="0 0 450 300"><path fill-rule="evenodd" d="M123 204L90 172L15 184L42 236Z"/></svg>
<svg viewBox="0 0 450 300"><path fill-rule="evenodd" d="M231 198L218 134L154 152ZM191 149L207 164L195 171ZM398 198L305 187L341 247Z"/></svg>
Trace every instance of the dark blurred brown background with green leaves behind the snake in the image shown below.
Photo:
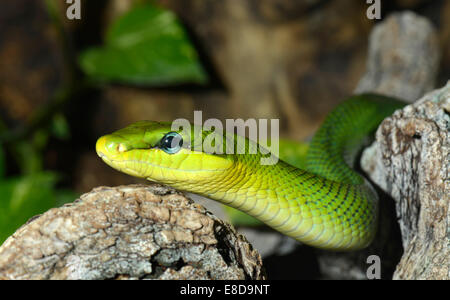
<svg viewBox="0 0 450 300"><path fill-rule="evenodd" d="M100 185L139 180L96 139L148 119L279 118L307 139L364 73L377 20L360 0L81 1L0 8L0 243L29 217ZM450 1L382 1L438 30L450 78Z"/></svg>

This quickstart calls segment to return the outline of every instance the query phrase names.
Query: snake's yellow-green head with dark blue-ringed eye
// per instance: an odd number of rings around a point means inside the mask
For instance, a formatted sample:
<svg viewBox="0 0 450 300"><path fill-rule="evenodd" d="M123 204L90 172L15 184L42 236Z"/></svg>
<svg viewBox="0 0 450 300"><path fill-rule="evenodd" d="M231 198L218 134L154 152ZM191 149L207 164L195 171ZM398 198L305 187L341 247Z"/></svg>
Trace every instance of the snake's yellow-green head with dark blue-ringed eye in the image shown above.
<svg viewBox="0 0 450 300"><path fill-rule="evenodd" d="M196 150L194 128L172 130L170 123L140 121L99 138L96 151L121 172L190 190L220 180L234 163L232 156Z"/></svg>

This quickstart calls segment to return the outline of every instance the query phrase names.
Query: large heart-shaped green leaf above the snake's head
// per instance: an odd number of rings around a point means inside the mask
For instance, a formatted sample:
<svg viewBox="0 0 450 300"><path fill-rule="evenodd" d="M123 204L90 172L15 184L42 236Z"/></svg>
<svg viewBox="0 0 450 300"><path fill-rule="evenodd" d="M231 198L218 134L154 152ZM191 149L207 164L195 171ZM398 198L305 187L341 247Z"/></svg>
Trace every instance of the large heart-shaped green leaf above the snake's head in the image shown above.
<svg viewBox="0 0 450 300"><path fill-rule="evenodd" d="M86 50L79 61L97 80L158 86L207 81L176 16L152 4L137 6L116 20L105 45Z"/></svg>

